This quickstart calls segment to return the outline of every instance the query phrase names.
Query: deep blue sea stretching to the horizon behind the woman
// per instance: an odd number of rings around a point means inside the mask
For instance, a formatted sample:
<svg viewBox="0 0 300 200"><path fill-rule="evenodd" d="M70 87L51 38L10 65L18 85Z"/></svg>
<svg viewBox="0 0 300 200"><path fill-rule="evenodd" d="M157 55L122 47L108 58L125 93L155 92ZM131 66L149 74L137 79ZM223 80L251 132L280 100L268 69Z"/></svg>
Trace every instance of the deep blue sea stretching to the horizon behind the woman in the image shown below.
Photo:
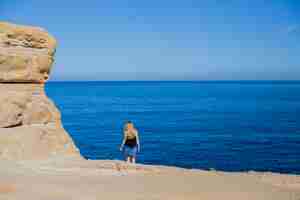
<svg viewBox="0 0 300 200"><path fill-rule="evenodd" d="M131 120L140 163L300 174L300 82L49 82L46 91L89 159L122 159Z"/></svg>

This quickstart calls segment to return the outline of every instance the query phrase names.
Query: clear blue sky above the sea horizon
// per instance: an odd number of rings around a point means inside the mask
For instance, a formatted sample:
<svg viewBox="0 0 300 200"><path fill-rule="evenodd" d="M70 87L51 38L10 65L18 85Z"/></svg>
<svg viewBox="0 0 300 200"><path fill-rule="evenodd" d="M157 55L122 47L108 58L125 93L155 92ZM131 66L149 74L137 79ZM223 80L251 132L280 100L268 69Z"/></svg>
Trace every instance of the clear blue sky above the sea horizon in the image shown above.
<svg viewBox="0 0 300 200"><path fill-rule="evenodd" d="M0 0L58 40L52 80L300 80L299 0Z"/></svg>

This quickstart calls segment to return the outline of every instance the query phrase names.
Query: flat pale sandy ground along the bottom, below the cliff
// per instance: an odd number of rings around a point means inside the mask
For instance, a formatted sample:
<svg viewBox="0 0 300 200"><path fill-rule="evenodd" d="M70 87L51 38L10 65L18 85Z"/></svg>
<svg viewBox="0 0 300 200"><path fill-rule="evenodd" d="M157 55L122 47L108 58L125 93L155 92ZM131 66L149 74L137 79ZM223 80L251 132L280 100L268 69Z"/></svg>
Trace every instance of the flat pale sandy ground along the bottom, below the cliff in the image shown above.
<svg viewBox="0 0 300 200"><path fill-rule="evenodd" d="M0 161L0 200L300 200L300 176L121 161Z"/></svg>

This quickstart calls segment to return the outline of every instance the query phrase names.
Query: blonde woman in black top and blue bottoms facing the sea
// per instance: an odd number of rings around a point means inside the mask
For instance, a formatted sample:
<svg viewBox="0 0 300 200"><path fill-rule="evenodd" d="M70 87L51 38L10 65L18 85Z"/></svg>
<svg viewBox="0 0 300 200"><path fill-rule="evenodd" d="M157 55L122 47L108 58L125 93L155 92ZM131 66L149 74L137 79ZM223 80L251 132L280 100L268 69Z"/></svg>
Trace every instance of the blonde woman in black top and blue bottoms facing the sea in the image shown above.
<svg viewBox="0 0 300 200"><path fill-rule="evenodd" d="M124 136L120 151L124 150L125 160L128 163L135 163L136 154L140 151L139 134L132 122L127 122L124 126Z"/></svg>

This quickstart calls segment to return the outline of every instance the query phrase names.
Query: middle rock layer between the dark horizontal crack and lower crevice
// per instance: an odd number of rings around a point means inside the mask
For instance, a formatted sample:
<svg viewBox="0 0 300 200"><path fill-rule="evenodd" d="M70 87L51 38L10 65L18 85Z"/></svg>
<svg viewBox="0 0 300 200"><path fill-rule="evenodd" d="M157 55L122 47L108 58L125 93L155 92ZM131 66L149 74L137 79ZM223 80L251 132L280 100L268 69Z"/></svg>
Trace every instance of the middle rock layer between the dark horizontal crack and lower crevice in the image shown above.
<svg viewBox="0 0 300 200"><path fill-rule="evenodd" d="M0 84L0 128L60 123L60 113L42 84Z"/></svg>

